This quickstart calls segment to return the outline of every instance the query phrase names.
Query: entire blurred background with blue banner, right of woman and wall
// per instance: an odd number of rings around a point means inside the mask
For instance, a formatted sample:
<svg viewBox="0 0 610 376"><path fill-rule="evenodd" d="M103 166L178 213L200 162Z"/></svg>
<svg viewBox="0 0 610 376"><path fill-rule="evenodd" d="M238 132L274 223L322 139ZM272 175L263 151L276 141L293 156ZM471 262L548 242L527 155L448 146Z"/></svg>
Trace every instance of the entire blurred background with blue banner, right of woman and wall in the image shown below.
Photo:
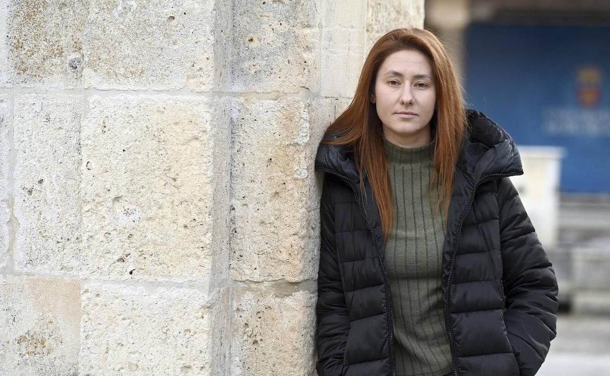
<svg viewBox="0 0 610 376"><path fill-rule="evenodd" d="M610 375L610 1L427 0L467 106L522 155L513 182L559 283L538 375Z"/></svg>

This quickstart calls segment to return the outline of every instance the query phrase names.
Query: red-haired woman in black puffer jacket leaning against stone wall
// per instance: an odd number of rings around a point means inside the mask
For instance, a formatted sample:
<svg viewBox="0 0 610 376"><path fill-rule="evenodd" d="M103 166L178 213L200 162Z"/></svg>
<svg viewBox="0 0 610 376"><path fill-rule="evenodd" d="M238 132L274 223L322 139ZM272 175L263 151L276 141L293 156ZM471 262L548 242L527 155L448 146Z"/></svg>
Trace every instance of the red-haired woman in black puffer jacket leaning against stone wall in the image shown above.
<svg viewBox="0 0 610 376"><path fill-rule="evenodd" d="M315 169L318 375L536 374L558 286L509 179L519 152L464 109L431 32L375 43Z"/></svg>

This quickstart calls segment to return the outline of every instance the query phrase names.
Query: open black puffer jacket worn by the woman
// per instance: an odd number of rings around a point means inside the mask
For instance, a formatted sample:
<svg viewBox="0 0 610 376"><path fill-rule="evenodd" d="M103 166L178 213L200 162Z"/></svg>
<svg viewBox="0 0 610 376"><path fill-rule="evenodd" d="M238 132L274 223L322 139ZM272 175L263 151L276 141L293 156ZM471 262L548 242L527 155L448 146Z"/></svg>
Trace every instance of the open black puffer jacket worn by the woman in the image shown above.
<svg viewBox="0 0 610 376"><path fill-rule="evenodd" d="M443 245L445 327L453 375L531 376L556 335L553 268L508 176L523 169L514 141L483 113L456 166ZM381 222L351 153L321 144L317 332L320 376L395 374Z"/></svg>

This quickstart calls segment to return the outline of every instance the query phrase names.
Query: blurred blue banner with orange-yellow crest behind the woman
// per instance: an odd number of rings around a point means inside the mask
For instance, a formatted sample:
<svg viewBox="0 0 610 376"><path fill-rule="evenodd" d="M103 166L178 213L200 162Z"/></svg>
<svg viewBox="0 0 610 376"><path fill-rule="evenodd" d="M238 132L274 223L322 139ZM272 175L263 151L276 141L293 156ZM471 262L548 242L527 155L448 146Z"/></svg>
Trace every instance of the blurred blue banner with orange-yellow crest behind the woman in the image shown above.
<svg viewBox="0 0 610 376"><path fill-rule="evenodd" d="M610 193L610 27L471 24L468 107L519 145L565 149L564 193Z"/></svg>

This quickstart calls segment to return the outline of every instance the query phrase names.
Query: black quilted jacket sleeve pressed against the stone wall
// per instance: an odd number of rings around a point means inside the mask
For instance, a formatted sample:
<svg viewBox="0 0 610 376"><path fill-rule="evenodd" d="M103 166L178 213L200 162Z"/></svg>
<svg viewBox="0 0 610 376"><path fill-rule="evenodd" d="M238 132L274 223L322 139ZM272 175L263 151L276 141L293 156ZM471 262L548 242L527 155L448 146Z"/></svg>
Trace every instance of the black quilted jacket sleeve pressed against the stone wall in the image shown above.
<svg viewBox="0 0 610 376"><path fill-rule="evenodd" d="M319 376L340 376L343 353L350 331L350 320L342 283L334 232L334 215L330 199L331 183L325 177L320 200L320 267L318 269L316 369Z"/></svg>

